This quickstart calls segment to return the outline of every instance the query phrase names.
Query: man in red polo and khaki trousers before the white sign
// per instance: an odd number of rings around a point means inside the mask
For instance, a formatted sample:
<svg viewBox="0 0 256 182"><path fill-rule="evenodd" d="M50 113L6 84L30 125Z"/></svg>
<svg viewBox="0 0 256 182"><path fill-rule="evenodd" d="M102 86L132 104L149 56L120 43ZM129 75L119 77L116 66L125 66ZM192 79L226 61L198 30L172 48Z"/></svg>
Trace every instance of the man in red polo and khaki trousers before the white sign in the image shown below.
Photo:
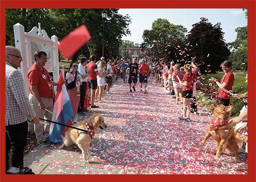
<svg viewBox="0 0 256 182"><path fill-rule="evenodd" d="M39 118L51 120L52 114L45 109L51 112L53 110L53 85L57 85L57 83L52 82L52 77L44 68L48 60L47 53L38 50L35 52L34 58L35 64L29 69L28 73L29 102ZM38 144L48 147L50 145L48 141L50 125L44 126L44 124L38 123L34 125L34 128Z"/></svg>

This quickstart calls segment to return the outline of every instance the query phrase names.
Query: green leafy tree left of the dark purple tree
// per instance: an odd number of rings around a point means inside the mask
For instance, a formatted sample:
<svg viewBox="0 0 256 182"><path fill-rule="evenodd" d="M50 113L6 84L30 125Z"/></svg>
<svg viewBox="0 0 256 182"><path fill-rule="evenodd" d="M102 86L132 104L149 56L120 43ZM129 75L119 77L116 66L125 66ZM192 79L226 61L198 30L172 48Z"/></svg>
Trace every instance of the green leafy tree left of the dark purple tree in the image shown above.
<svg viewBox="0 0 256 182"><path fill-rule="evenodd" d="M165 52L166 46L172 40L184 40L186 32L187 29L183 26L159 18L152 23L152 29L143 31L143 43L140 47L147 57L155 60L170 59Z"/></svg>

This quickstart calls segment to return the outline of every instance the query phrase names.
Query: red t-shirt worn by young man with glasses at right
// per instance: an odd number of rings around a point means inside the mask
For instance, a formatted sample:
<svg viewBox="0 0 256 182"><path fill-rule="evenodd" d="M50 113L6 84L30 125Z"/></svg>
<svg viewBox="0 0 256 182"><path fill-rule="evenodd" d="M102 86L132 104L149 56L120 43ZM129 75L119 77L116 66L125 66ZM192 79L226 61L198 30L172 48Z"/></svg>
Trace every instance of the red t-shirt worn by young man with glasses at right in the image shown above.
<svg viewBox="0 0 256 182"><path fill-rule="evenodd" d="M229 71L227 74L224 74L223 77L221 78L221 84L222 83L227 83L227 86L225 87L226 90L232 91L232 86L234 83L234 74ZM218 90L218 97L222 99L230 99L230 94L219 89Z"/></svg>

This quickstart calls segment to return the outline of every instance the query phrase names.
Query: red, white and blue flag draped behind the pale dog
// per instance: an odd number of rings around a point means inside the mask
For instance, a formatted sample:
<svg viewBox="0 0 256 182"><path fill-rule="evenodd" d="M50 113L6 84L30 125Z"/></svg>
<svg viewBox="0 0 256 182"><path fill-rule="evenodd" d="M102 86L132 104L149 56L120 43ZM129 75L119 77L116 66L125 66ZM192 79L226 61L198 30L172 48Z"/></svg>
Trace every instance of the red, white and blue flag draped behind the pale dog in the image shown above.
<svg viewBox="0 0 256 182"><path fill-rule="evenodd" d="M61 69L61 74L58 80L55 102L53 106L52 121L72 125L71 118L74 116L72 105L67 94L67 89L64 80L64 68ZM49 131L49 141L51 143L61 143L65 137L65 131L68 128L58 124L51 123Z"/></svg>

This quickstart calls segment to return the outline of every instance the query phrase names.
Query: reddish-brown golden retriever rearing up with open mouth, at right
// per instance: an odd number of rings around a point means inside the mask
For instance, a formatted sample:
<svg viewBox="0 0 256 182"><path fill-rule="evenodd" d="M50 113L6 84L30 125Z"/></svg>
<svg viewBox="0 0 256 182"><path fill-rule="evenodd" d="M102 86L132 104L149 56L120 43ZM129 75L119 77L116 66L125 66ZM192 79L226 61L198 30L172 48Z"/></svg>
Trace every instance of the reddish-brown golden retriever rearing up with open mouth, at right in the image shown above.
<svg viewBox="0 0 256 182"><path fill-rule="evenodd" d="M200 146L203 146L207 139L212 137L216 143L217 152L216 157L221 156L222 151L229 151L235 154L236 162L241 162L241 159L238 155L238 148L241 145L242 140L239 131L233 129L233 125L228 122L230 119L230 113L234 108L233 105L225 107L224 105L212 104L212 120L209 125L209 131L204 136L204 139L200 143Z"/></svg>

